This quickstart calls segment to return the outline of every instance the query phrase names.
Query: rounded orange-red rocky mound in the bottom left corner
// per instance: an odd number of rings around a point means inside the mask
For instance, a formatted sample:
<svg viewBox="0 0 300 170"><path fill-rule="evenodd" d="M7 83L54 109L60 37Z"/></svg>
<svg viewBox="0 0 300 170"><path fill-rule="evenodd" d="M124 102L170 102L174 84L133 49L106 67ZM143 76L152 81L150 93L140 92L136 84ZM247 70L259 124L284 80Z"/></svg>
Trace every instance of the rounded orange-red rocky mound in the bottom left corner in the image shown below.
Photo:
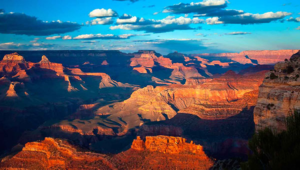
<svg viewBox="0 0 300 170"><path fill-rule="evenodd" d="M21 152L0 163L1 169L114 169L104 155L79 152L59 139L25 144Z"/></svg>

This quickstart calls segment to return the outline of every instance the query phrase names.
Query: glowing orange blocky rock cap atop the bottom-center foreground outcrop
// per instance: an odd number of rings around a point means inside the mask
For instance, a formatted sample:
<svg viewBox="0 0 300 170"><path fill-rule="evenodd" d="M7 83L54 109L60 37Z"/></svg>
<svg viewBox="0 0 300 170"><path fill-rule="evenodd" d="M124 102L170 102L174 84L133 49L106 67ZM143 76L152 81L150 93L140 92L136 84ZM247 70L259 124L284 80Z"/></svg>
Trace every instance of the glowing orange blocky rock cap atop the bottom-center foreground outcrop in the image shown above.
<svg viewBox="0 0 300 170"><path fill-rule="evenodd" d="M180 153L193 153L202 156L206 156L203 152L203 147L200 145L186 143L186 139L181 137L169 137L169 136L147 136L145 142L143 142L138 136L133 140L132 149L142 151L148 150L151 152L157 151L163 154L180 154ZM208 159L208 158L207 158Z"/></svg>

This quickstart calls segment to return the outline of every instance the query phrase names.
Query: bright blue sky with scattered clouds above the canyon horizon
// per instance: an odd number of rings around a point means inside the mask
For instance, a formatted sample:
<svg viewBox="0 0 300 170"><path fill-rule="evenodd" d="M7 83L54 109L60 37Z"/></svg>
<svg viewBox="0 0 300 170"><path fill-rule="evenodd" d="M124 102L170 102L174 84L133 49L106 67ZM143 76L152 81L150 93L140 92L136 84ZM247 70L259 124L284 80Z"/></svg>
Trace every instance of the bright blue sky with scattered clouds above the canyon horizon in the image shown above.
<svg viewBox="0 0 300 170"><path fill-rule="evenodd" d="M298 49L299 7L298 0L2 0L0 49Z"/></svg>

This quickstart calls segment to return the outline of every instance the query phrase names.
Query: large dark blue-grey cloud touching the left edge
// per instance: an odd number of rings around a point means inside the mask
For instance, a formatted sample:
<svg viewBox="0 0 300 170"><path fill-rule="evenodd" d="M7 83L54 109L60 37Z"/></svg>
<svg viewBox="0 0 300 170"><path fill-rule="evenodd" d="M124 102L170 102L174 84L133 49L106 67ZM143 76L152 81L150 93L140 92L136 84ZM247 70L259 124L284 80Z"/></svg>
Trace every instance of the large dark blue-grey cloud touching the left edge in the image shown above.
<svg viewBox="0 0 300 170"><path fill-rule="evenodd" d="M72 32L80 27L74 22L42 21L24 13L0 13L0 33L39 36Z"/></svg>

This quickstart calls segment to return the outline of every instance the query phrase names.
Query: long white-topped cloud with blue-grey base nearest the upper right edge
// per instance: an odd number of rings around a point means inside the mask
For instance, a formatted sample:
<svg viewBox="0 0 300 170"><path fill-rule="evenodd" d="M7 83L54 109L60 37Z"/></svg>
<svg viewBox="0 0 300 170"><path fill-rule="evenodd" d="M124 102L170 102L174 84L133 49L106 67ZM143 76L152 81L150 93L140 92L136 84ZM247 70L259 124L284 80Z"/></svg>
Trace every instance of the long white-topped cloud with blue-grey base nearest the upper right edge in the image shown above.
<svg viewBox="0 0 300 170"><path fill-rule="evenodd" d="M265 12L263 14L244 13L234 16L210 17L205 21L207 24L254 24L254 23L269 23L274 20L279 20L285 16L291 15L289 12Z"/></svg>

